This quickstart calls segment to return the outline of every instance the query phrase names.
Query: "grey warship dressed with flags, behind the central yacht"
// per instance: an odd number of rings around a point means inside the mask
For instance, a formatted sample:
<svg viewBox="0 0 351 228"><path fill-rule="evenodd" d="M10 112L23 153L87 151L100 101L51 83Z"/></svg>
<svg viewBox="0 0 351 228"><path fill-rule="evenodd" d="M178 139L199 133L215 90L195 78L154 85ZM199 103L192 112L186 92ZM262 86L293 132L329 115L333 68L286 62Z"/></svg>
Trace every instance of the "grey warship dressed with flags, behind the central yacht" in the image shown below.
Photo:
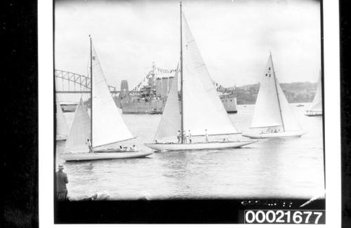
<svg viewBox="0 0 351 228"><path fill-rule="evenodd" d="M129 91L128 81L121 81L121 92L114 98L124 114L162 114L176 69L161 69L154 63L143 81ZM213 81L227 113L237 113L234 87L225 88Z"/></svg>

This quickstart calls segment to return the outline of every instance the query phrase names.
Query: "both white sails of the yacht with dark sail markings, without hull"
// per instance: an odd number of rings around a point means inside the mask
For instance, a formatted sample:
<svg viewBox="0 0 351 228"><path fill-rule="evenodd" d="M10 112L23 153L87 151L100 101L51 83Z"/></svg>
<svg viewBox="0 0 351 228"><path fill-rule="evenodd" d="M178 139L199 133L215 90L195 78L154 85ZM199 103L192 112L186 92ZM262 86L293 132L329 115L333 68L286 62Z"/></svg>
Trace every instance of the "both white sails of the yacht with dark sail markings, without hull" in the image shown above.
<svg viewBox="0 0 351 228"><path fill-rule="evenodd" d="M251 123L251 128L270 127L284 131L301 130L275 75L272 55L268 58L265 74L260 79Z"/></svg>

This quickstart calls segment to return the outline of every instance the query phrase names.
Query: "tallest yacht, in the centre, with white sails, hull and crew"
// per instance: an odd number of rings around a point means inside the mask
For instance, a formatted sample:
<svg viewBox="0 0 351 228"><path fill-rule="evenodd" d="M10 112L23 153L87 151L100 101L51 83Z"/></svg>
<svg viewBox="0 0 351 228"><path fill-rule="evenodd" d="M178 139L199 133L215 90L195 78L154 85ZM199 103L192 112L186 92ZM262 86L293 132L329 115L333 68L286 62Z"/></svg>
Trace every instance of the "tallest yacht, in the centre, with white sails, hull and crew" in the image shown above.
<svg viewBox="0 0 351 228"><path fill-rule="evenodd" d="M184 34L183 34L184 24ZM184 41L184 43L183 43ZM180 66L178 65L164 112L155 135L155 143L145 146L157 151L220 149L249 145L254 140L187 143L185 134L204 135L239 134L220 101L211 76L208 74L197 44L190 32L180 3ZM178 74L180 74L180 101L178 100ZM180 132L180 142L177 133Z"/></svg>

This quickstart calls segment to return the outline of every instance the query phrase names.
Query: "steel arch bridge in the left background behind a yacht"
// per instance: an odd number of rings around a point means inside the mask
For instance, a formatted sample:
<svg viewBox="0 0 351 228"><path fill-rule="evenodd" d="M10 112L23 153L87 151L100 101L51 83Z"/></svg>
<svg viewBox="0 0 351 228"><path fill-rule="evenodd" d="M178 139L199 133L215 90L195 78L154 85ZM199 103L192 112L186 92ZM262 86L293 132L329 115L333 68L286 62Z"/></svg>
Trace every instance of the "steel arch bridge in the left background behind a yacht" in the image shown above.
<svg viewBox="0 0 351 228"><path fill-rule="evenodd" d="M108 85L112 95L119 95L117 87ZM82 74L55 69L56 93L91 93L91 79Z"/></svg>

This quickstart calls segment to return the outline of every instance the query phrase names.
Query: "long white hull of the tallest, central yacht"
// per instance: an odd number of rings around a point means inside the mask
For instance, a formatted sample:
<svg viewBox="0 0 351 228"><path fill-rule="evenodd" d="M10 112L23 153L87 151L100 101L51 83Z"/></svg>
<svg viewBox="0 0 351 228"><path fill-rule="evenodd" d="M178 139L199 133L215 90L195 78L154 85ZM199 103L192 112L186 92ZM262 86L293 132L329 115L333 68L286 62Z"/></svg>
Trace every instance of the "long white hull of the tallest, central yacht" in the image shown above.
<svg viewBox="0 0 351 228"><path fill-rule="evenodd" d="M199 143L145 143L145 146L151 149L162 151L162 150L197 150L197 149L225 149L225 148L236 148L249 145L257 141L237 141L237 142L199 142Z"/></svg>

